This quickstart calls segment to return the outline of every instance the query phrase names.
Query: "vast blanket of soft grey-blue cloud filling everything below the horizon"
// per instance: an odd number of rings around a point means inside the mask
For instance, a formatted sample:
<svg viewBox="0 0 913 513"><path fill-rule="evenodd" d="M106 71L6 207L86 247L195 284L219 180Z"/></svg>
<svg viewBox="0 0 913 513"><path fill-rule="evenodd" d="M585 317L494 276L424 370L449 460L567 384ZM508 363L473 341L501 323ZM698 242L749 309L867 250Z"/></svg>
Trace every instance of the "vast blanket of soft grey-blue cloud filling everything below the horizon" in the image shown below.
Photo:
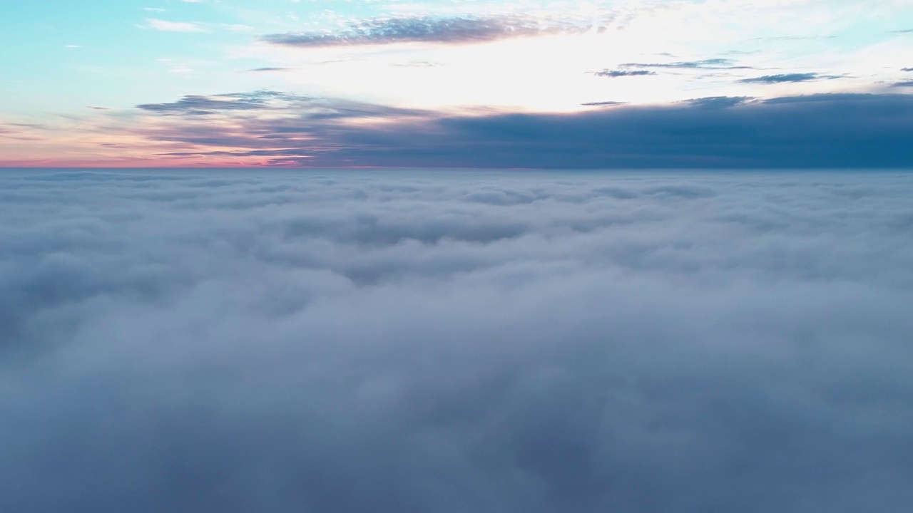
<svg viewBox="0 0 913 513"><path fill-rule="evenodd" d="M909 174L0 185L4 511L913 501Z"/></svg>

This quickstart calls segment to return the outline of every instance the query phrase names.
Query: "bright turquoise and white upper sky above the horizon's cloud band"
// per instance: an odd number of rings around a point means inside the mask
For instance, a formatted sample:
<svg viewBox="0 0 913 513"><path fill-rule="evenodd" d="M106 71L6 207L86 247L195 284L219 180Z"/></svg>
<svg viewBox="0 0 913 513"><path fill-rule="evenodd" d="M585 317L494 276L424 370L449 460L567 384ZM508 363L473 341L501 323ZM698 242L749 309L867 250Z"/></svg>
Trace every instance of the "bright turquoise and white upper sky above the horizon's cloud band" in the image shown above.
<svg viewBox="0 0 913 513"><path fill-rule="evenodd" d="M897 93L913 67L909 0L54 0L2 26L5 123L256 90L453 112Z"/></svg>

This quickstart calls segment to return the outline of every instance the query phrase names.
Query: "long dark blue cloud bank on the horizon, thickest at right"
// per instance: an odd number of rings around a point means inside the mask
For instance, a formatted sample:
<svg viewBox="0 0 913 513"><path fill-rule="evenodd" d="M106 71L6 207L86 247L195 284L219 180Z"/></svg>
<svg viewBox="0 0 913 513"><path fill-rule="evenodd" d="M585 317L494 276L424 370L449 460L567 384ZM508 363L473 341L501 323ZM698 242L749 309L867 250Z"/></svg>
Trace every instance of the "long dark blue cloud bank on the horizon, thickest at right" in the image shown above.
<svg viewBox="0 0 913 513"><path fill-rule="evenodd" d="M188 119L146 132L194 144L175 154L280 155L276 165L389 167L903 167L913 165L913 96L711 97L572 114L443 115L302 100L229 129ZM182 101L164 113L194 112ZM296 115L296 110L299 109ZM229 114L231 111L227 111ZM374 116L383 123L352 123ZM207 146L218 146L209 149Z"/></svg>

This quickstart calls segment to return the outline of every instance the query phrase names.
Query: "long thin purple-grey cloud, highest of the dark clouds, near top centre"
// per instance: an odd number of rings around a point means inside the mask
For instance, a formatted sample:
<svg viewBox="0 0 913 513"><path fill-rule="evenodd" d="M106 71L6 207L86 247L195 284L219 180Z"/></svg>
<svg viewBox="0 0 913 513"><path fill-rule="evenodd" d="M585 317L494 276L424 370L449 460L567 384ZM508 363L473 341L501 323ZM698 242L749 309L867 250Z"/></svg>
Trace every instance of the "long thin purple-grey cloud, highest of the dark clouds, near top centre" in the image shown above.
<svg viewBox="0 0 913 513"><path fill-rule="evenodd" d="M267 43L291 47L389 45L411 42L465 44L511 37L582 33L589 28L571 23L543 24L534 19L517 16L408 17L367 20L338 32L269 34L261 39Z"/></svg>

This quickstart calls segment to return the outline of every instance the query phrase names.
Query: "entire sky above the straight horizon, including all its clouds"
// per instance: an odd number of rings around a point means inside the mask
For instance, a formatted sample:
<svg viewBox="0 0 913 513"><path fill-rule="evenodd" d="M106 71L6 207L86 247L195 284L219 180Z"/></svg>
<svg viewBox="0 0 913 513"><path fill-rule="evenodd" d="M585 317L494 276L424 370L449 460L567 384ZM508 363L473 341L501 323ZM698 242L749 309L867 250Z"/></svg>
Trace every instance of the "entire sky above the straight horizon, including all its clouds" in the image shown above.
<svg viewBox="0 0 913 513"><path fill-rule="evenodd" d="M908 167L908 0L5 0L0 165Z"/></svg>

